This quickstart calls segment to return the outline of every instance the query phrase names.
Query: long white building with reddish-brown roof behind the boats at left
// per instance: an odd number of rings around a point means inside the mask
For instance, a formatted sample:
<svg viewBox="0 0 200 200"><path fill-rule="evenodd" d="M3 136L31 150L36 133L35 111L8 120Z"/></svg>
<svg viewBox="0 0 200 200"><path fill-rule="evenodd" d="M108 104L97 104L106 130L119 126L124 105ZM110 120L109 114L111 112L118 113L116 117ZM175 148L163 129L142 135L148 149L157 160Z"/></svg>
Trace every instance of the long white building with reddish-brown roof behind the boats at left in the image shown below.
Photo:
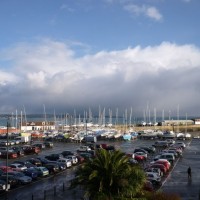
<svg viewBox="0 0 200 200"><path fill-rule="evenodd" d="M23 122L21 125L21 131L47 131L55 130L55 122Z"/></svg>

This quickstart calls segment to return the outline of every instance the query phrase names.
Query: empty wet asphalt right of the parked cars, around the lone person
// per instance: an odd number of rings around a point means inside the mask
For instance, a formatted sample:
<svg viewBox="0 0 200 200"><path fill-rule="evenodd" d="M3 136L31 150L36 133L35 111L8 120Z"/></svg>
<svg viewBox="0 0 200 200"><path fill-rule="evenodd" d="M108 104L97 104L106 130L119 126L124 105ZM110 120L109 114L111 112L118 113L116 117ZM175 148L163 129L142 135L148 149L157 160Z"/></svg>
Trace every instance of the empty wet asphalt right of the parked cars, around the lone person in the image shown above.
<svg viewBox="0 0 200 200"><path fill-rule="evenodd" d="M187 169L192 169L188 179ZM162 186L162 191L178 194L181 200L200 200L200 139L193 139L184 150Z"/></svg>

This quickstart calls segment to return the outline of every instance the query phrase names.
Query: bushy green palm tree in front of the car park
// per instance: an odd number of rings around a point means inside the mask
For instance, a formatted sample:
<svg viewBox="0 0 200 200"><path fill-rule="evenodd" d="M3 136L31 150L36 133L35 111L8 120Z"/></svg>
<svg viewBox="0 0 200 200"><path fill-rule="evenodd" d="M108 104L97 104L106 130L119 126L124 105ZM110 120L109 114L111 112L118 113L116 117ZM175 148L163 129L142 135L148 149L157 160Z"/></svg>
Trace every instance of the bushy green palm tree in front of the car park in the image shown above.
<svg viewBox="0 0 200 200"><path fill-rule="evenodd" d="M82 186L85 196L95 200L133 198L146 180L139 166L131 166L121 151L98 150L93 160L80 166L71 183Z"/></svg>

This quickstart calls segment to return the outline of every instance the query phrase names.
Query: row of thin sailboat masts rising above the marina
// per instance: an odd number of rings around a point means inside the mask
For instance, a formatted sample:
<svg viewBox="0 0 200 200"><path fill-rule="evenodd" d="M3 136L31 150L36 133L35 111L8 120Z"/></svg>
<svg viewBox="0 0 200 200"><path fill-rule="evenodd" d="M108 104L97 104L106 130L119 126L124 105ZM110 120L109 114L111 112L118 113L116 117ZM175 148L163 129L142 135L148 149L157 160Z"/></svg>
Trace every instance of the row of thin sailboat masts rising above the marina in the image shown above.
<svg viewBox="0 0 200 200"><path fill-rule="evenodd" d="M43 105L44 108L44 120L46 123L50 120L47 119L46 114L46 108L45 105ZM151 110L149 106L147 105L147 108L143 111L143 122L144 125L155 125L157 123L157 115L156 115L156 108L153 109L153 119L151 117ZM108 119L107 119L108 118ZM123 120L119 120L119 118L122 118ZM169 120L171 119L171 111L169 111ZM187 114L186 114L187 118ZM162 121L165 120L165 112L162 110ZM177 107L177 120L179 120L179 105ZM52 121L52 119L51 119ZM84 111L83 114L77 114L76 110L74 110L73 114L70 115L69 113L56 115L54 110L54 118L53 121L55 124L62 124L62 125L78 125L78 124L85 124L85 123L96 123L99 126L105 126L106 124L109 125L120 125L123 124L125 127L128 126L134 126L137 122L137 118L133 116L133 109L132 107L128 110L125 109L125 111L122 114L119 114L119 109L116 108L115 112L113 114L112 109L108 109L108 112L106 112L106 108L101 109L99 106L98 116L94 116L92 113L92 110L89 108L88 111ZM17 110L11 115L10 123L11 126L19 128L22 126L22 123L27 123L27 114L25 107L23 106L23 111L20 112L20 115L18 114Z"/></svg>

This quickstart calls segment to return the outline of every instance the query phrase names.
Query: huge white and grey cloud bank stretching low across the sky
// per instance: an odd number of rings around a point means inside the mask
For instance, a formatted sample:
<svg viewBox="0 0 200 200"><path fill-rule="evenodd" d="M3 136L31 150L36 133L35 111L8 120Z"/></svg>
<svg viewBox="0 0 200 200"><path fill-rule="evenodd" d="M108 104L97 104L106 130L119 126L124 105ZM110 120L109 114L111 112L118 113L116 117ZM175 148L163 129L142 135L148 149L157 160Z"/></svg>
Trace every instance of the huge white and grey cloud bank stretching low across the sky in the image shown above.
<svg viewBox="0 0 200 200"><path fill-rule="evenodd" d="M76 56L54 40L19 43L0 52L0 113L80 112L98 107L198 115L200 49L163 42ZM78 112L78 111L77 111ZM153 112L153 111L152 111ZM159 114L157 114L159 115Z"/></svg>

